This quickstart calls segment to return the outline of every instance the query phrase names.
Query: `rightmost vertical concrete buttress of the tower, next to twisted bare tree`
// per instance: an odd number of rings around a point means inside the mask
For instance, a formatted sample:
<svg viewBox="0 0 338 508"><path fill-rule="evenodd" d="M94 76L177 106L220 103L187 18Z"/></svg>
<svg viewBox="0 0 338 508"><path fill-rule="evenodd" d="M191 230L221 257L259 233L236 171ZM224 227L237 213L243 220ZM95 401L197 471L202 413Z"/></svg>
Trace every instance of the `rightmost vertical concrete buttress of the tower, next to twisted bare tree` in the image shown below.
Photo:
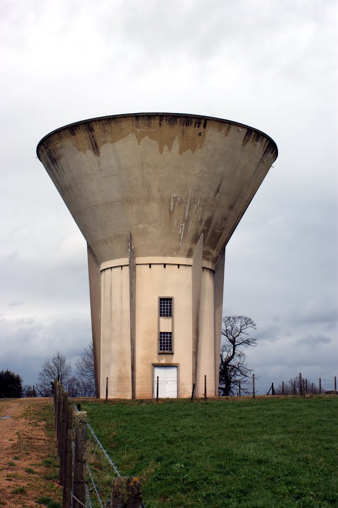
<svg viewBox="0 0 338 508"><path fill-rule="evenodd" d="M215 352L215 395L218 395L220 376L221 331L223 314L223 286L224 286L225 247L216 264L213 275L213 305L214 305L214 352Z"/></svg>

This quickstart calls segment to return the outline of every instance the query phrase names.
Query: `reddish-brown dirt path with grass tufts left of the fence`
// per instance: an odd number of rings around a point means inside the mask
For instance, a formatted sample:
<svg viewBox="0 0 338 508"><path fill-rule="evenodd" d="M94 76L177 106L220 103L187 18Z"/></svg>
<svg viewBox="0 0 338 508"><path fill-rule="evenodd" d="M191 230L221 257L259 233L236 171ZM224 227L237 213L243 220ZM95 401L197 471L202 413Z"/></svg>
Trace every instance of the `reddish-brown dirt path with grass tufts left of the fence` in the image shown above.
<svg viewBox="0 0 338 508"><path fill-rule="evenodd" d="M41 508L39 496L60 499L55 440L46 431L50 407L49 399L0 401L1 507Z"/></svg>

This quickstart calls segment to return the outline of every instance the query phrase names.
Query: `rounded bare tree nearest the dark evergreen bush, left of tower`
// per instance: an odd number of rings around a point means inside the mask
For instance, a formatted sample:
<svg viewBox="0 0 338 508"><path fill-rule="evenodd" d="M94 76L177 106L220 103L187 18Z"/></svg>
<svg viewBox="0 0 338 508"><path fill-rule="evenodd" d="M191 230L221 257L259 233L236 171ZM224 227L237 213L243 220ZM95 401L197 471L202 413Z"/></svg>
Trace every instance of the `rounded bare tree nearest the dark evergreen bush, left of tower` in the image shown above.
<svg viewBox="0 0 338 508"><path fill-rule="evenodd" d="M42 397L50 397L53 391L54 379L56 378L64 386L67 386L71 373L71 363L67 362L65 355L58 351L51 359L42 364L36 389Z"/></svg>

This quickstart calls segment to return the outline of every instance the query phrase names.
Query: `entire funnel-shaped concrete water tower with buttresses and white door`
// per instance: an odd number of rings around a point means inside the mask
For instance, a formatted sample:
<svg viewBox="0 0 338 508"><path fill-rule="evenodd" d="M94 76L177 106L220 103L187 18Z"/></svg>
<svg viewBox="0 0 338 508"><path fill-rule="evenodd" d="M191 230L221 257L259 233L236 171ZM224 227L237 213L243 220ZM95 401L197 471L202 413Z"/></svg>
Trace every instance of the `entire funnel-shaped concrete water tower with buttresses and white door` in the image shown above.
<svg viewBox="0 0 338 508"><path fill-rule="evenodd" d="M97 395L218 395L225 246L277 157L240 123L84 120L37 148L88 246Z"/></svg>

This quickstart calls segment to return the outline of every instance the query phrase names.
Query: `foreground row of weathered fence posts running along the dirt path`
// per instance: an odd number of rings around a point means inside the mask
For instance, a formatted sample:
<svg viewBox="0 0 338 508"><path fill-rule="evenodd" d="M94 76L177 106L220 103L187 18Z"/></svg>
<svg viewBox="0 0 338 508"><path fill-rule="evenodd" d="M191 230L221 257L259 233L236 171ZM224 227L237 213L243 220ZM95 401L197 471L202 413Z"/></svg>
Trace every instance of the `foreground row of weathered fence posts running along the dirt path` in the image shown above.
<svg viewBox="0 0 338 508"><path fill-rule="evenodd" d="M60 459L59 484L63 486L63 508L86 506L86 430L87 413L74 411L74 405L60 382L54 380L53 402L57 453ZM142 508L139 478L112 479L111 508Z"/></svg>

